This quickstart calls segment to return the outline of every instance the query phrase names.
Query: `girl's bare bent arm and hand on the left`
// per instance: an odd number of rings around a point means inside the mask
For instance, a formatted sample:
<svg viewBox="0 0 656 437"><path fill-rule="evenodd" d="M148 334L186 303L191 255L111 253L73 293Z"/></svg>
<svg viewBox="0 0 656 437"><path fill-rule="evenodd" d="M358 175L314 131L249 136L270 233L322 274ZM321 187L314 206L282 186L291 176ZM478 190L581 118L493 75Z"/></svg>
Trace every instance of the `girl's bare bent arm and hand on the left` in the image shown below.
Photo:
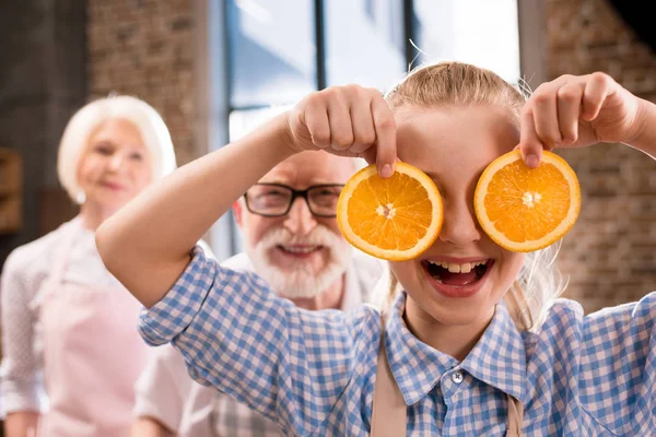
<svg viewBox="0 0 656 437"><path fill-rule="evenodd" d="M313 93L251 134L178 168L97 229L103 262L151 307L235 200L286 157L318 149L377 162L380 175L390 176L396 127L380 93L355 85Z"/></svg>

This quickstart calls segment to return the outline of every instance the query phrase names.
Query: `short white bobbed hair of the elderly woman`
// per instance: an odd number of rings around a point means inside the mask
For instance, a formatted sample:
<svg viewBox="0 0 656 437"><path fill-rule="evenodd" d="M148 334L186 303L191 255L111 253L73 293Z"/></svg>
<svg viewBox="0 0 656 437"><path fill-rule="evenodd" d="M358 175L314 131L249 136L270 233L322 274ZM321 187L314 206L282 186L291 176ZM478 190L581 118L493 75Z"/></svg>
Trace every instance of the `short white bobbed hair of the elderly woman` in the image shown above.
<svg viewBox="0 0 656 437"><path fill-rule="evenodd" d="M83 194L78 182L80 160L93 131L108 119L127 120L137 128L152 156L153 180L161 179L176 168L168 128L152 106L127 95L99 98L86 104L71 117L59 143L59 182L75 202Z"/></svg>

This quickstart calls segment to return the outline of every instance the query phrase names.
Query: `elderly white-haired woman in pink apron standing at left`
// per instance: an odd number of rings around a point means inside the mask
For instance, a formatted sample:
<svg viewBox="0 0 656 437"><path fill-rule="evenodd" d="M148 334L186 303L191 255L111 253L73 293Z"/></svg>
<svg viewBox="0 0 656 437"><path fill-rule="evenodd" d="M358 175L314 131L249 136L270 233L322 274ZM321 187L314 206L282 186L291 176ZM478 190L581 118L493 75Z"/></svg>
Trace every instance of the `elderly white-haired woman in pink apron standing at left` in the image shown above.
<svg viewBox="0 0 656 437"><path fill-rule="evenodd" d="M148 354L134 328L141 306L105 269L94 234L175 166L164 121L138 98L95 101L69 121L58 174L80 214L16 248L2 273L9 437L128 435Z"/></svg>

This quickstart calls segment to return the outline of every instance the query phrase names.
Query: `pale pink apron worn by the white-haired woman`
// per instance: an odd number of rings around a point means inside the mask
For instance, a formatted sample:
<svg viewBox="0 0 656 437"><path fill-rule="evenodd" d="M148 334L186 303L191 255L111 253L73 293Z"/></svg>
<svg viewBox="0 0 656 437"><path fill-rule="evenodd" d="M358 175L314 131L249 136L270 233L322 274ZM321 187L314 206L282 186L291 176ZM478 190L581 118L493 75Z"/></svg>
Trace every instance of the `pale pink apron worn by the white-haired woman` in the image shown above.
<svg viewBox="0 0 656 437"><path fill-rule="evenodd" d="M39 436L127 437L149 353L137 331L141 305L120 285L63 280L75 231L67 229L38 303L49 400Z"/></svg>

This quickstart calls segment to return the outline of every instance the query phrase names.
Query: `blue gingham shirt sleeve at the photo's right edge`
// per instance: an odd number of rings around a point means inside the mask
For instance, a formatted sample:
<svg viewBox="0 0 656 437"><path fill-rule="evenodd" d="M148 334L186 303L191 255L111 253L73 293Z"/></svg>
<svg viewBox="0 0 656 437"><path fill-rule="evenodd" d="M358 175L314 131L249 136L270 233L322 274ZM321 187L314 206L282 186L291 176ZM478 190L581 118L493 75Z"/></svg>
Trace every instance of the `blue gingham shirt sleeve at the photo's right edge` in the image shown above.
<svg viewBox="0 0 656 437"><path fill-rule="evenodd" d="M622 435L642 434L626 427L654 418L656 411L655 319L656 293L584 319L582 404L597 422L624 429Z"/></svg>

